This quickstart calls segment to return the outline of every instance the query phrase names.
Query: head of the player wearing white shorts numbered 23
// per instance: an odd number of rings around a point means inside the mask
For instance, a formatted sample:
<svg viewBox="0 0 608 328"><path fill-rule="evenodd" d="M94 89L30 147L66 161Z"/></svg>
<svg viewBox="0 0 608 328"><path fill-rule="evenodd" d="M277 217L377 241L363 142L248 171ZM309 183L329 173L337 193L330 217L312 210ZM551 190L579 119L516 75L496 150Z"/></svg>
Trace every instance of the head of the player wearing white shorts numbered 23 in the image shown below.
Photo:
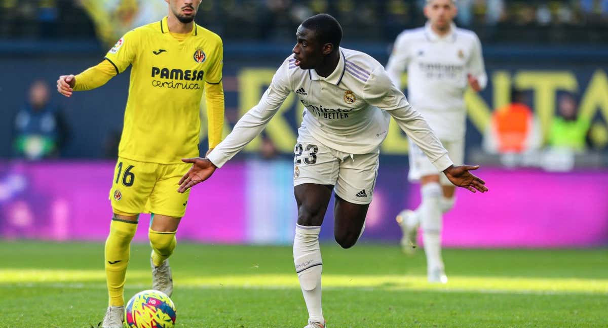
<svg viewBox="0 0 608 328"><path fill-rule="evenodd" d="M331 15L319 14L306 18L295 33L296 66L314 69L323 63L325 56L339 51L342 26Z"/></svg>

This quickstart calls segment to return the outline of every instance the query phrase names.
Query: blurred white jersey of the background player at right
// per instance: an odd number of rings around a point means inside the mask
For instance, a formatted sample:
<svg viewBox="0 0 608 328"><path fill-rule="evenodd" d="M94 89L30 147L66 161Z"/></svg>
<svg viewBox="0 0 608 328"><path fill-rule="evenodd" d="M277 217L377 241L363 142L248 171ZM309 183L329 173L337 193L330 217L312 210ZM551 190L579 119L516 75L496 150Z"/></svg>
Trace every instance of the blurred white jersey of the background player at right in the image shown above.
<svg viewBox="0 0 608 328"><path fill-rule="evenodd" d="M488 83L474 32L452 24L447 35L439 36L429 23L406 30L397 37L386 70L400 90L401 73L407 70L407 97L441 140L465 136L467 75L477 77L482 89Z"/></svg>

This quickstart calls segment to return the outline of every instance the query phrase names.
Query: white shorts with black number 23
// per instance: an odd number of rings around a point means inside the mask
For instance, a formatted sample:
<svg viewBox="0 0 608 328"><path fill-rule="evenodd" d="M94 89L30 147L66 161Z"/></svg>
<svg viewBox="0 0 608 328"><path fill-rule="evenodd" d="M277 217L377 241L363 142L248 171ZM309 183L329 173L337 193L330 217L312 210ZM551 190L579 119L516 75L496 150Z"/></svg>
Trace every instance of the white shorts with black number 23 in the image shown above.
<svg viewBox="0 0 608 328"><path fill-rule="evenodd" d="M333 185L334 193L347 202L362 205L371 202L378 176L379 148L370 154L348 154L323 145L306 128L300 128L294 153L294 186Z"/></svg>

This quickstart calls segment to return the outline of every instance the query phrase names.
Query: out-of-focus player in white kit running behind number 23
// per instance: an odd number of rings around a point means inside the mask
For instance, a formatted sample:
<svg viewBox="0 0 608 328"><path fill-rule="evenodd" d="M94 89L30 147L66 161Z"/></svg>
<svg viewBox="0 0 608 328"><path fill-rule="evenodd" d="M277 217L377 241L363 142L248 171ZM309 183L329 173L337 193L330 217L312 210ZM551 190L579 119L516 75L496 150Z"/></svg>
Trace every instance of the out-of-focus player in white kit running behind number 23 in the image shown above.
<svg viewBox="0 0 608 328"><path fill-rule="evenodd" d="M401 74L407 70L408 98L429 123L455 163L465 156L468 85L482 90L488 81L482 46L474 32L458 29L453 22L454 0L427 0L426 26L402 32L395 41L386 70L401 90ZM421 182L422 202L415 211L397 216L406 253L416 247L418 226L423 228L429 282L447 282L441 259L442 214L454 207L454 185L437 171L429 157L410 139L410 181Z"/></svg>

